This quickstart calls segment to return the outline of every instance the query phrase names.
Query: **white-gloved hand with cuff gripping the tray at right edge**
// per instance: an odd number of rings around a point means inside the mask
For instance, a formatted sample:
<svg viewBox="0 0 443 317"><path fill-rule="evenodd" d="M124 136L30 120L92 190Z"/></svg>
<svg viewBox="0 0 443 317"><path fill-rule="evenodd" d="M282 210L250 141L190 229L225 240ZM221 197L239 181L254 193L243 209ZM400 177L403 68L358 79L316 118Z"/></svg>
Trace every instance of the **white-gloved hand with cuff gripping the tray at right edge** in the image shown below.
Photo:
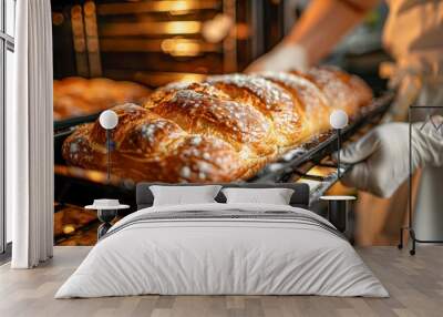
<svg viewBox="0 0 443 317"><path fill-rule="evenodd" d="M412 172L425 165L443 166L443 117L414 123L412 133ZM340 155L341 162L354 164L343 175L343 184L390 197L410 173L409 124L380 125Z"/></svg>

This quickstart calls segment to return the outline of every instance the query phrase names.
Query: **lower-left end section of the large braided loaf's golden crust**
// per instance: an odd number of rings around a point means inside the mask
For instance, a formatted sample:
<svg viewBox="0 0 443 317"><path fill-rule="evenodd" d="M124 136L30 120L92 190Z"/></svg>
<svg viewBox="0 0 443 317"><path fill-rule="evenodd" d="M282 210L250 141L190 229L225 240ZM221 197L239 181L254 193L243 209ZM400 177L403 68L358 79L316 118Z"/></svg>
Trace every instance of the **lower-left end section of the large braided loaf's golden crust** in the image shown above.
<svg viewBox="0 0 443 317"><path fill-rule="evenodd" d="M115 175L134 181L219 182L243 171L238 152L219 139L188 134L135 104L114 110L120 120L112 131ZM105 140L99 122L81 125L64 142L63 157L75 166L105 171Z"/></svg>

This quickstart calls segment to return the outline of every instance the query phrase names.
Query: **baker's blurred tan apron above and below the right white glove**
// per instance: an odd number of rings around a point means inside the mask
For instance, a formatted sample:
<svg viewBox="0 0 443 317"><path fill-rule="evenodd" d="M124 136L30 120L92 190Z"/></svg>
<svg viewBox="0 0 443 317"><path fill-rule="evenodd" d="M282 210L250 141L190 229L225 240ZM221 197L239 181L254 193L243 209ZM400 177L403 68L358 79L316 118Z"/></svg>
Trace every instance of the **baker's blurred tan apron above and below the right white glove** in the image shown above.
<svg viewBox="0 0 443 317"><path fill-rule="evenodd" d="M399 92L391 117L406 121L411 104L443 106L443 1L387 2L390 12L383 44L395 59L390 85ZM443 168L424 167L413 177L414 229L419 239L443 239L442 187ZM408 182L388 200L360 193L358 243L398 244L408 198Z"/></svg>

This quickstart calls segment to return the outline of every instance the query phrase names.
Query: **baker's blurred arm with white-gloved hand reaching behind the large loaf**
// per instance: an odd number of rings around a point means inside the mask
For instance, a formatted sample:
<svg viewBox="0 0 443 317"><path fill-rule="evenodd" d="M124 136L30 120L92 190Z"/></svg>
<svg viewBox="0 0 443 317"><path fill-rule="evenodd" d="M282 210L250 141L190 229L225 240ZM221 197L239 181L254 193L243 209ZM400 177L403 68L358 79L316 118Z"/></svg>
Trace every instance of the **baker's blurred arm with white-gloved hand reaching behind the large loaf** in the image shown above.
<svg viewBox="0 0 443 317"><path fill-rule="evenodd" d="M250 64L246 72L302 70L319 63L378 2L312 0L281 43Z"/></svg>

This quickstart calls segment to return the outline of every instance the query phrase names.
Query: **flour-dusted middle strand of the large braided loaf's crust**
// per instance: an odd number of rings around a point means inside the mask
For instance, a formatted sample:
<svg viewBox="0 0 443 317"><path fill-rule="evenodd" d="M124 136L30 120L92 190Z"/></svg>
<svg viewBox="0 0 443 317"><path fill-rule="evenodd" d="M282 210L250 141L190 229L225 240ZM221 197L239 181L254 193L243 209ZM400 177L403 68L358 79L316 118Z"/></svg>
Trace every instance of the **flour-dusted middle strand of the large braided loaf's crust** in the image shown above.
<svg viewBox="0 0 443 317"><path fill-rule="evenodd" d="M198 86L171 92L151 110L188 133L214 135L248 155L264 156L276 151L270 122L257 109L215 98Z"/></svg>

